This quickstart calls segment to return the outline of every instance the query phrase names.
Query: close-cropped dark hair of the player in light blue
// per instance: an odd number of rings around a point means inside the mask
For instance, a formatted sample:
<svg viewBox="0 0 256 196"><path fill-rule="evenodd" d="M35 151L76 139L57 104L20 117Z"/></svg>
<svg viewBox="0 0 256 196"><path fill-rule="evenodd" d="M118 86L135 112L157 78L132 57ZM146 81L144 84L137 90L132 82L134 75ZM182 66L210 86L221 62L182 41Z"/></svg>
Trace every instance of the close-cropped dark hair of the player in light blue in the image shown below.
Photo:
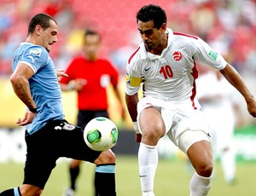
<svg viewBox="0 0 256 196"><path fill-rule="evenodd" d="M32 20L30 20L29 25L28 25L28 31L27 34L31 34L32 32L35 31L35 27L37 25L42 26L42 28L45 30L49 27L49 21L53 20L57 24L56 20L50 16L49 14L36 14L32 17Z"/></svg>

